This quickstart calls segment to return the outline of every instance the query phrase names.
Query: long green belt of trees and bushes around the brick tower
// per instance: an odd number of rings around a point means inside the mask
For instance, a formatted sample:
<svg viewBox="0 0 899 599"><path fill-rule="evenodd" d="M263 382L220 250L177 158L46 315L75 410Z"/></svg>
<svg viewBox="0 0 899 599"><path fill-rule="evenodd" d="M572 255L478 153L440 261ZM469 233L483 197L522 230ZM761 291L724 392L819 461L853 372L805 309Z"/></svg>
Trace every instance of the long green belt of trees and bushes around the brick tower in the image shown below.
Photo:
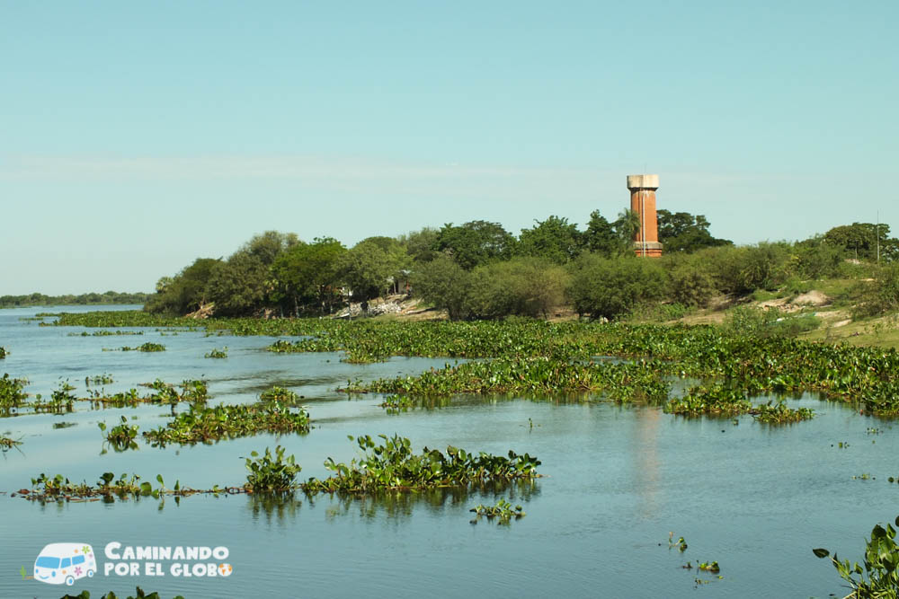
<svg viewBox="0 0 899 599"><path fill-rule="evenodd" d="M549 216L515 236L498 223L471 221L369 237L352 248L270 231L225 260L200 258L161 278L144 309L314 315L408 292L454 320L546 316L562 305L616 318L647 305L703 306L715 295L798 288L805 279L876 277L870 262L899 258L887 225L853 223L801 242L736 247L709 233L702 215L660 210L658 222L661 259L634 255L639 218L630 210L612 222L594 211L583 229Z"/></svg>

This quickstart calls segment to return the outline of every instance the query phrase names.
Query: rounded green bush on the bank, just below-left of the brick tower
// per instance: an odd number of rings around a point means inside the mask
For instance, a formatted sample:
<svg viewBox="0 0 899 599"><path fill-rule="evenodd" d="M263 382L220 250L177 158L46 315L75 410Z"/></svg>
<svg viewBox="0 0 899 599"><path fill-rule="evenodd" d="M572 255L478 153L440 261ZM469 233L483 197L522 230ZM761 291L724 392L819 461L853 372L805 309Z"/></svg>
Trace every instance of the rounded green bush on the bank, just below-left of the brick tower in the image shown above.
<svg viewBox="0 0 899 599"><path fill-rule="evenodd" d="M568 296L578 314L613 319L663 298L665 272L656 260L583 254L574 262Z"/></svg>

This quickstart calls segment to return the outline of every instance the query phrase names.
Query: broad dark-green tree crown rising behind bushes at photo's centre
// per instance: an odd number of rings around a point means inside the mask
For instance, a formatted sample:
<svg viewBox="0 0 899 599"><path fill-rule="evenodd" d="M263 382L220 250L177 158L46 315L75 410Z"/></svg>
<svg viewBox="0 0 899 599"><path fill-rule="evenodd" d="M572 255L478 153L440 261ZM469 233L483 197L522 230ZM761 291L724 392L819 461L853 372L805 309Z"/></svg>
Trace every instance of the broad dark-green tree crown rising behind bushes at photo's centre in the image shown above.
<svg viewBox="0 0 899 599"><path fill-rule="evenodd" d="M466 270L494 260L509 260L515 238L499 223L471 221L461 226L443 225L437 233L437 250L446 252Z"/></svg>

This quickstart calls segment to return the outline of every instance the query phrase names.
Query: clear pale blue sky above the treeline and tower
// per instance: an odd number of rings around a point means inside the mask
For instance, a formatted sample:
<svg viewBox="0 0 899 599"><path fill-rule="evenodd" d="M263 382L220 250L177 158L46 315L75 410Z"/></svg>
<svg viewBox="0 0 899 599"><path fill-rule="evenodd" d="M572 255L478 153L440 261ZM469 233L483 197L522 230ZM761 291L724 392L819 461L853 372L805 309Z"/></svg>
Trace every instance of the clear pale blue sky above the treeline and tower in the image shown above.
<svg viewBox="0 0 899 599"><path fill-rule="evenodd" d="M899 2L0 0L0 295L658 207L899 233Z"/></svg>

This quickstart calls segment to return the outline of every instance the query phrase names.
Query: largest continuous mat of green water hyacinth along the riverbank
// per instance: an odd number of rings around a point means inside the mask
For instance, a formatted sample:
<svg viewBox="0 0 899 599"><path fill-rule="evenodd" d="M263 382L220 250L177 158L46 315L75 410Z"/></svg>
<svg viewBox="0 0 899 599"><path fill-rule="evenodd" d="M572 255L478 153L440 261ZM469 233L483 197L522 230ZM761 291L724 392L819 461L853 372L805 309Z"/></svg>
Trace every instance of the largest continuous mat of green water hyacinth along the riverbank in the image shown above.
<svg viewBox="0 0 899 599"><path fill-rule="evenodd" d="M139 312L63 314L82 326L179 324L180 318ZM413 397L477 393L590 392L612 401L665 404L682 415L750 413L764 422L811 418L810 410L753 406L765 393L822 392L869 413L899 415L899 353L895 349L823 345L793 339L791 320L755 319L738 311L725 327L601 322L383 322L331 319L209 319L202 328L238 335L299 336L271 344L273 352L342 351L350 362L391 356L484 358L417 377L348 382L344 391ZM194 322L196 323L196 322ZM612 362L601 356L630 358ZM669 398L672 377L701 384ZM22 382L4 381L7 402L22 401ZM18 398L18 399L13 399ZM289 400L289 398L287 398ZM135 398L135 401L139 401ZM386 401L389 403L389 401ZM393 408L392 405L386 407ZM402 407L397 404L396 407Z"/></svg>

